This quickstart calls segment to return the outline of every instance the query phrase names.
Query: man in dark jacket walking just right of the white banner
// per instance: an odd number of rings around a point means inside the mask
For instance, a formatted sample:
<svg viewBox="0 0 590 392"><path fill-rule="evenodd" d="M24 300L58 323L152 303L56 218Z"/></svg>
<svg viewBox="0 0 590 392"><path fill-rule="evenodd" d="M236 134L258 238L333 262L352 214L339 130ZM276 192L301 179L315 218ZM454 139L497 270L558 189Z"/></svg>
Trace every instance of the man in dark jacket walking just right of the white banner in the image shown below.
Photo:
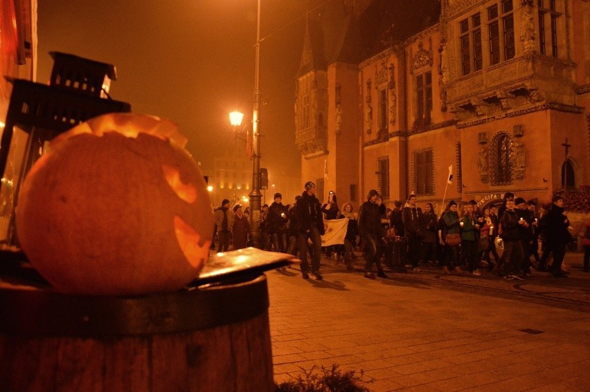
<svg viewBox="0 0 590 392"><path fill-rule="evenodd" d="M359 234L365 240L365 277L375 279L373 264L377 265L377 276L386 278L387 275L381 267L381 255L385 245L385 228L381 224L381 212L377 205L379 194L371 189L367 195L367 201L361 205L359 211Z"/></svg>

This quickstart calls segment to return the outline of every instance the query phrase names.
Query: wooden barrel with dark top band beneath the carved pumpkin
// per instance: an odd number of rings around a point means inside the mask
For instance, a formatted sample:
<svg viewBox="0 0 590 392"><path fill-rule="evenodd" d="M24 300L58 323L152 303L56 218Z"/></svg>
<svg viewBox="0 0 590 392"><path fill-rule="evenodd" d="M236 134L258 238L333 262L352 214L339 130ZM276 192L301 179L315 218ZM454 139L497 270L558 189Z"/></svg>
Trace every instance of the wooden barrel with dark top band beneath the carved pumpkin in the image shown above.
<svg viewBox="0 0 590 392"><path fill-rule="evenodd" d="M0 285L0 391L273 391L268 290L145 297Z"/></svg>

